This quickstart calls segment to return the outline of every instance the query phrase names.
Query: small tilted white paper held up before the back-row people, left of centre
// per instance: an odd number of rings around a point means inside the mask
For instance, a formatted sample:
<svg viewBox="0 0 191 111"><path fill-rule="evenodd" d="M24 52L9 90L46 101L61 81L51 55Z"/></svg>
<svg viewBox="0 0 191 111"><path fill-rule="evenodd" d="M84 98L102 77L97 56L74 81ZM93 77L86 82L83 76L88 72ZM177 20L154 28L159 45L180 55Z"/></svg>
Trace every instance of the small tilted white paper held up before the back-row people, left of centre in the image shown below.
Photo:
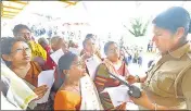
<svg viewBox="0 0 191 111"><path fill-rule="evenodd" d="M59 62L59 59L64 54L62 49L56 50L55 52L53 52L52 54L50 54L50 57L52 58L52 60L56 63Z"/></svg>

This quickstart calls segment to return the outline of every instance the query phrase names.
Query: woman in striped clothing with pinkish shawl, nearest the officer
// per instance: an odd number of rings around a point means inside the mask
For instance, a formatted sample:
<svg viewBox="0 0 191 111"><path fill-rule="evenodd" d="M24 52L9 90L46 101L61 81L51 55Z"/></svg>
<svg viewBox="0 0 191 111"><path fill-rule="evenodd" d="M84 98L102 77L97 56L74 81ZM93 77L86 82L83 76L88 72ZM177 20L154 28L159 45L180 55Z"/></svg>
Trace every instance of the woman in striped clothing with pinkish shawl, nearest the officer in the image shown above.
<svg viewBox="0 0 191 111"><path fill-rule="evenodd" d="M94 84L100 95L101 102L104 110L125 110L126 103L122 103L118 107L114 107L107 92L102 92L107 87L119 86L120 83L112 77L110 73L116 74L117 76L128 76L126 64L119 59L119 49L116 42L109 41L104 46L104 52L106 59L100 64L96 72Z"/></svg>

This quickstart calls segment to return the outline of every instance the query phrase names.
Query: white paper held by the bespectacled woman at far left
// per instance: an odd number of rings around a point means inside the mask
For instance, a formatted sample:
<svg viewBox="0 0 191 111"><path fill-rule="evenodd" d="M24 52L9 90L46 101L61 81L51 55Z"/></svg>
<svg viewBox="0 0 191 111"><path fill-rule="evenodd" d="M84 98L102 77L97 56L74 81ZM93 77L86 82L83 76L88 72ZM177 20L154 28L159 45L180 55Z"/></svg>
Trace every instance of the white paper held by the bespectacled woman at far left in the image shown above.
<svg viewBox="0 0 191 111"><path fill-rule="evenodd" d="M36 101L37 103L44 103L48 101L50 89L53 85L53 82L54 82L54 70L42 71L38 75L38 87L42 85L47 85L49 89L41 99Z"/></svg>

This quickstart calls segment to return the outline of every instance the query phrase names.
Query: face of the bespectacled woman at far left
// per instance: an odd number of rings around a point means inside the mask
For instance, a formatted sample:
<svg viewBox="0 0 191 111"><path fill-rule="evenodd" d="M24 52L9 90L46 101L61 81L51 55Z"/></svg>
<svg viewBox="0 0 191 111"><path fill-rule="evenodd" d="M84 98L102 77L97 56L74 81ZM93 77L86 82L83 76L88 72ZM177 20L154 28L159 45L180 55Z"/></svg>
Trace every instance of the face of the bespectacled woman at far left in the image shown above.
<svg viewBox="0 0 191 111"><path fill-rule="evenodd" d="M28 63L31 59L31 50L24 41L16 41L10 54L10 61L13 63Z"/></svg>

